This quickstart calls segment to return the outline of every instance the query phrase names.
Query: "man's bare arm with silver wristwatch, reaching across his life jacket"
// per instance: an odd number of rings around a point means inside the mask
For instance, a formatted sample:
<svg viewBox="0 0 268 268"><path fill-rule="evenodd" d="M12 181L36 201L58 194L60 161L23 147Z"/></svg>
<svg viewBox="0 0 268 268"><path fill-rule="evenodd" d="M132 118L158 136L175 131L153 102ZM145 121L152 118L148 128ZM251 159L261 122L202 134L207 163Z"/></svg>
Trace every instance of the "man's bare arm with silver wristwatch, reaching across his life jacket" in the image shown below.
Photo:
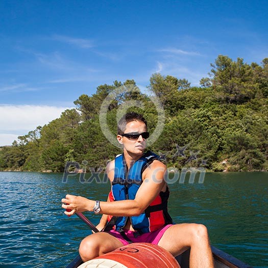
<svg viewBox="0 0 268 268"><path fill-rule="evenodd" d="M112 177L112 163L108 167L108 177ZM139 187L134 200L123 200L114 202L100 202L100 213L114 216L137 216L140 215L157 197L163 186L165 185L164 174L166 166L160 161L155 160L144 171L143 183ZM84 197L66 195L62 199L62 205L65 209L71 209L71 212L65 211L66 215L72 215L75 212L92 211L95 201Z"/></svg>

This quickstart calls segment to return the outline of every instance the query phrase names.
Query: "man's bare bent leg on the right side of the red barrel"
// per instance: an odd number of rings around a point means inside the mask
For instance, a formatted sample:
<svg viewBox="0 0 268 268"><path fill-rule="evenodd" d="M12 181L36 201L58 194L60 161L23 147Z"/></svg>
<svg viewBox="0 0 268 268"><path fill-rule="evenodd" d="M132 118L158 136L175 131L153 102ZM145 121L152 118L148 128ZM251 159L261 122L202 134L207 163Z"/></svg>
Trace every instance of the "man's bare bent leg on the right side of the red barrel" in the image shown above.
<svg viewBox="0 0 268 268"><path fill-rule="evenodd" d="M207 228L202 224L177 224L169 227L158 246L178 256L190 248L190 268L212 268L213 256Z"/></svg>

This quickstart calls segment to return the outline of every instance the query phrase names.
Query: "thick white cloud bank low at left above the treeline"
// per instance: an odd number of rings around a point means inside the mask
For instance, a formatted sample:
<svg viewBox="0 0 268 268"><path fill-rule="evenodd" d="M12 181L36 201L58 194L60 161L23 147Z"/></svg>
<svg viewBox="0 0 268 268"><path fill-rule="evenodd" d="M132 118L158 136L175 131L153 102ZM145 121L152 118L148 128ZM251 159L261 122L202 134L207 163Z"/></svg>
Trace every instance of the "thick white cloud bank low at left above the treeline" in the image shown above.
<svg viewBox="0 0 268 268"><path fill-rule="evenodd" d="M11 145L17 136L26 135L59 118L70 107L0 105L0 145Z"/></svg>

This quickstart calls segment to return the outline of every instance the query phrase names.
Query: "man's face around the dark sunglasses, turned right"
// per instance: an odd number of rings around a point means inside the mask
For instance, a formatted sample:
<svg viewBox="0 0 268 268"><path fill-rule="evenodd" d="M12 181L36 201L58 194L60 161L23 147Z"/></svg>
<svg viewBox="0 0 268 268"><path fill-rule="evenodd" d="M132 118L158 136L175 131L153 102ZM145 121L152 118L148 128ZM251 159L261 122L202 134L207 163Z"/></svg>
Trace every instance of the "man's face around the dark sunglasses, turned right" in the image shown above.
<svg viewBox="0 0 268 268"><path fill-rule="evenodd" d="M143 133L146 132L147 128L141 121L131 121L126 125L124 133ZM146 140L140 135L138 139L132 140L127 137L117 135L119 143L124 145L124 150L136 155L143 154L146 147Z"/></svg>

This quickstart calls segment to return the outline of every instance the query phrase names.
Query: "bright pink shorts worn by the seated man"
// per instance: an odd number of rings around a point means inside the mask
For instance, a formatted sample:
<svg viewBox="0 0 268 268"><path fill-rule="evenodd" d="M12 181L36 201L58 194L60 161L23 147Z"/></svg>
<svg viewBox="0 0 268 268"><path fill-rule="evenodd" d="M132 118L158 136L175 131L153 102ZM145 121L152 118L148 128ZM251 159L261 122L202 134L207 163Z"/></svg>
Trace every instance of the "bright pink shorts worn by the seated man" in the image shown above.
<svg viewBox="0 0 268 268"><path fill-rule="evenodd" d="M150 233L145 233L138 235L137 237L134 236L135 231L129 231L126 230L125 234L127 237L133 241L134 243L141 243L141 242L146 242L146 243L152 243L154 245L157 245L161 237L163 236L164 232L170 227L173 226L172 224L165 225L161 228L159 228L156 231L150 232ZM111 234L115 238L117 238L121 243L123 243L124 246L128 245L129 242L124 239L124 237L117 231L111 230L108 232L108 234Z"/></svg>

